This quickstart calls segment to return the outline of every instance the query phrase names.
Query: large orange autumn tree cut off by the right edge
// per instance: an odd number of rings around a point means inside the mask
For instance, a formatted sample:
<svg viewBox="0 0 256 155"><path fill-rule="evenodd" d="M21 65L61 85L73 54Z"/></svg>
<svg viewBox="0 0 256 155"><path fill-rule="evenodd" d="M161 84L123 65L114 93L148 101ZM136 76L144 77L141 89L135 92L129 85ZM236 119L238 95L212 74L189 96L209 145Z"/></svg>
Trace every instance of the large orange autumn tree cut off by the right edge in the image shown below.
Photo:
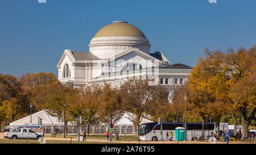
<svg viewBox="0 0 256 155"><path fill-rule="evenodd" d="M230 50L224 58L223 68L229 72L226 77L231 79L228 91L232 110L239 112L242 121L242 138L248 136L248 126L255 119L255 69L256 45L248 49ZM233 115L234 116L234 115ZM235 118L234 118L235 119Z"/></svg>

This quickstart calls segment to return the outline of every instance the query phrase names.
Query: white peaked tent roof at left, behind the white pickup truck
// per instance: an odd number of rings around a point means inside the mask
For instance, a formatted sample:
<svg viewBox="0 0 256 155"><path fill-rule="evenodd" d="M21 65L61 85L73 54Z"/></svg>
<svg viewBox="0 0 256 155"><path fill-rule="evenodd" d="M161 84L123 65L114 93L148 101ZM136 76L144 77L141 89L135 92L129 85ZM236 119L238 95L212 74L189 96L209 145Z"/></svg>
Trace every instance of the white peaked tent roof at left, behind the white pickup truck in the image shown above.
<svg viewBox="0 0 256 155"><path fill-rule="evenodd" d="M63 122L59 122L59 120L55 117L52 117L49 115L46 110L41 110L38 112L35 112L31 115L31 125L38 125L38 117L42 119L43 125L49 125L49 126L58 126L58 125L64 125ZM16 120L9 124L10 127L15 127L16 125L29 125L30 124L30 115ZM68 124L69 125L69 124Z"/></svg>

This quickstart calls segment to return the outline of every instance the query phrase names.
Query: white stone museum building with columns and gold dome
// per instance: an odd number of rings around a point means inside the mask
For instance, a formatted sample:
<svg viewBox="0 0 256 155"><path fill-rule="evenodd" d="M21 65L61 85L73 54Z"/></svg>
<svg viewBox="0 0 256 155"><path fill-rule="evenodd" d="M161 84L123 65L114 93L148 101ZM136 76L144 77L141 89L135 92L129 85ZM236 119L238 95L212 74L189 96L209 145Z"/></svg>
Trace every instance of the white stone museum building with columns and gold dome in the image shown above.
<svg viewBox="0 0 256 155"><path fill-rule="evenodd" d="M133 77L154 78L150 85L164 85L170 91L183 85L191 67L171 65L162 52L150 53L150 41L139 28L125 21L102 27L89 43L89 52L65 49L59 62L58 79L65 85L119 87Z"/></svg>

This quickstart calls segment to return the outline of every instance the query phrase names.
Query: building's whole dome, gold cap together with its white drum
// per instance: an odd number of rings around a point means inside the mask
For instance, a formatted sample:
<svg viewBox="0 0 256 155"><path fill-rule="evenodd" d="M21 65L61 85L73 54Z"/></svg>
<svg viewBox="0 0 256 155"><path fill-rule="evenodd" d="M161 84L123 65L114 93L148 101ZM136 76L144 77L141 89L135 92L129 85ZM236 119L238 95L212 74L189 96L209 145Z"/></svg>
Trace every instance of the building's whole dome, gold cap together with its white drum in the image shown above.
<svg viewBox="0 0 256 155"><path fill-rule="evenodd" d="M106 59L130 48L150 54L150 43L137 27L123 21L114 21L102 27L89 44L93 55Z"/></svg>

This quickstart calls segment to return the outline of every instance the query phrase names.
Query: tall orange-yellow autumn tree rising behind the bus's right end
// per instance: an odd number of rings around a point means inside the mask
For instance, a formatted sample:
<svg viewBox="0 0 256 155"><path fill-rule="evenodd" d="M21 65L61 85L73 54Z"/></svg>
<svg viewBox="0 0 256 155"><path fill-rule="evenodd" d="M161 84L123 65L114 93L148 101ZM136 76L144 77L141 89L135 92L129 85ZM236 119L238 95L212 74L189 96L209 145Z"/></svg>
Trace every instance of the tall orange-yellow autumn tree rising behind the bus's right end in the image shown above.
<svg viewBox="0 0 256 155"><path fill-rule="evenodd" d="M195 112L202 118L202 136L204 136L204 123L207 118L214 118L219 131L221 115L228 111L230 103L228 90L230 78L225 68L225 54L220 50L204 50L204 58L199 58L196 67L192 69L189 77L188 89L189 103L195 107Z"/></svg>

